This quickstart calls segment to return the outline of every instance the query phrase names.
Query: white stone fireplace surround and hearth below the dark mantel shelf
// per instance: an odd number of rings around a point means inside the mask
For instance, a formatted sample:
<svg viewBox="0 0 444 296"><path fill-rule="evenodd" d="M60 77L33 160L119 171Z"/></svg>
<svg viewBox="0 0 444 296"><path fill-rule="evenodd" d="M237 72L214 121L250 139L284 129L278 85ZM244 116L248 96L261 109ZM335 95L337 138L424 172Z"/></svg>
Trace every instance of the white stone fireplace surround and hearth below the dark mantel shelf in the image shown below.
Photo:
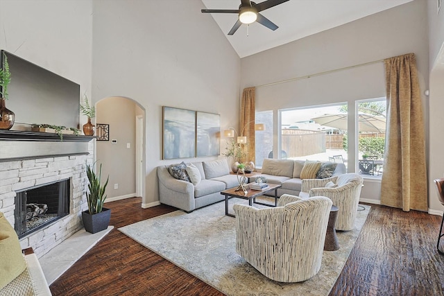
<svg viewBox="0 0 444 296"><path fill-rule="evenodd" d="M2 146L3 143L10 144L10 142L2 141ZM58 145L57 142L48 144ZM12 226L15 224L16 191L58 180L70 180L69 215L20 239L22 248L33 247L38 257L46 254L83 227L81 212L87 209L85 164L92 163L94 148L93 141L83 144L83 151L76 151L76 153L70 151L68 155L37 155L24 159L18 159L18 157L1 159L0 157L0 211ZM73 145L78 145L78 143L73 143Z"/></svg>

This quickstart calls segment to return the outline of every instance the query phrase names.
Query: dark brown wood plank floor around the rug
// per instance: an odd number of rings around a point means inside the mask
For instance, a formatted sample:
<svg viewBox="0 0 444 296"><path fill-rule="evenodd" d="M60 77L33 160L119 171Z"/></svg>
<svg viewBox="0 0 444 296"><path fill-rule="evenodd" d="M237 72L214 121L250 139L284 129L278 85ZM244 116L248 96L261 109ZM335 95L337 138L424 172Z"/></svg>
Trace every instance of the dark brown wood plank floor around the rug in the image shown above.
<svg viewBox="0 0 444 296"><path fill-rule="evenodd" d="M223 295L117 228L173 207L109 202L114 229L51 286L53 295ZM330 295L444 295L444 256L436 252L441 217L372 204Z"/></svg>

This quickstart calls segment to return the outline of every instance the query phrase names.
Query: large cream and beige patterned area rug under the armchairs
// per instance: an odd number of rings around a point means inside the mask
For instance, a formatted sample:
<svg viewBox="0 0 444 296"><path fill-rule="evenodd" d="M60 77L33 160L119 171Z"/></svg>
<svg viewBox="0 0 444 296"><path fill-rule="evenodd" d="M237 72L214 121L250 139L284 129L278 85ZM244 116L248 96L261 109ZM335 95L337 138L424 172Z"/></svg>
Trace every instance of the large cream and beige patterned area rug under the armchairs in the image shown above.
<svg viewBox="0 0 444 296"><path fill-rule="evenodd" d="M232 198L230 208L246 202ZM323 252L318 274L294 284L267 279L236 253L235 218L225 216L225 202L190 214L174 211L119 231L226 295L328 295L366 221L370 207L363 207L355 229L337 232L340 249Z"/></svg>

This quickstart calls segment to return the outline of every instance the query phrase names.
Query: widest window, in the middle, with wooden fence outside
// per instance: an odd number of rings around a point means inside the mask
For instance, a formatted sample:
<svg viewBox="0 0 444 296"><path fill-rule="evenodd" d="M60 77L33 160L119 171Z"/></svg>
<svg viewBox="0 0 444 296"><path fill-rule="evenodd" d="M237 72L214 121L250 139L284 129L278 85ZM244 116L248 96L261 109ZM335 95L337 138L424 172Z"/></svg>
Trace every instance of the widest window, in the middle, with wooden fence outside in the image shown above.
<svg viewBox="0 0 444 296"><path fill-rule="evenodd" d="M347 164L346 138L347 105L280 111L280 158Z"/></svg>

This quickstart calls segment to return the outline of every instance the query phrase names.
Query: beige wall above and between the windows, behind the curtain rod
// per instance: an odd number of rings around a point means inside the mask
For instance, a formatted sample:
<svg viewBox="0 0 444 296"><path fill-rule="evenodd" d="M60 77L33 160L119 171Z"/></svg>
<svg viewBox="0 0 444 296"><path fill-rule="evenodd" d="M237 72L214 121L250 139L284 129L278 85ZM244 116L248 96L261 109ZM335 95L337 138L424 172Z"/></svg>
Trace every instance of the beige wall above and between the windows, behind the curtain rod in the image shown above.
<svg viewBox="0 0 444 296"><path fill-rule="evenodd" d="M427 1L416 0L364 19L241 59L241 89L415 53L420 89L428 85ZM257 111L348 102L386 95L384 64L378 62L257 89ZM423 96L427 112L426 98ZM350 105L349 110L354 110ZM349 126L354 121L349 113ZM427 113L425 113L427 118ZM354 128L348 130L350 144ZM277 147L277 139L275 139ZM349 154L349 164L355 155ZM349 168L350 170L350 168ZM350 170L353 171L353 168ZM366 196L364 196L366 195ZM379 184L367 182L363 198L379 200Z"/></svg>

